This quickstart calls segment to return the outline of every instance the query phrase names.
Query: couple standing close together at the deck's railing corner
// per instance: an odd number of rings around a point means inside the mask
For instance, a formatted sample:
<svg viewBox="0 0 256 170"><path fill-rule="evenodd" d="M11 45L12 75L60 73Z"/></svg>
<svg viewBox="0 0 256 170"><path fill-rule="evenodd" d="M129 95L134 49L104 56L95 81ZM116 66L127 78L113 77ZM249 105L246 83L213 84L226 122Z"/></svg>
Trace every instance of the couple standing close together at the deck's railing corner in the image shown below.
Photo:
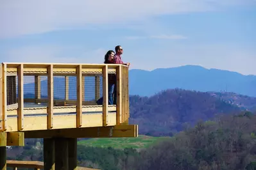
<svg viewBox="0 0 256 170"><path fill-rule="evenodd" d="M115 52L113 50L108 50L105 55L105 64L121 64L129 66L130 63L123 63L121 55L123 54L123 48L121 45L115 47ZM108 104L116 105L116 76L114 73L108 74Z"/></svg>

